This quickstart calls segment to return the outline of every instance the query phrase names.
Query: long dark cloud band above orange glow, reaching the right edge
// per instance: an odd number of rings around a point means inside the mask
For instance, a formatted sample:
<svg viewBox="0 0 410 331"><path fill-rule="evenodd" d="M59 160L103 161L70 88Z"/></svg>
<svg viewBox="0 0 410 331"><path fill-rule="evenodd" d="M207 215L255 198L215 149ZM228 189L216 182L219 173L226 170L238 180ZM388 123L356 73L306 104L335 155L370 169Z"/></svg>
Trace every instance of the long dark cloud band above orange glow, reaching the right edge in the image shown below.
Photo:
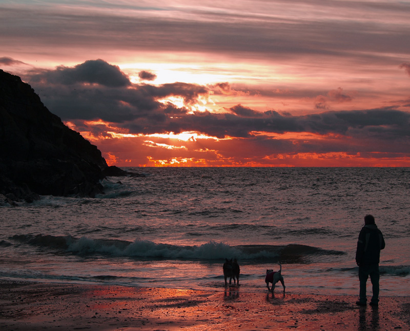
<svg viewBox="0 0 410 331"><path fill-rule="evenodd" d="M240 107L240 106L239 106ZM253 131L286 133L311 132L316 134L361 135L362 138L381 140L410 138L410 114L394 109L373 109L361 111L323 112L303 116L282 115L268 111L255 117L236 114L214 114L200 112L185 114L179 118L168 118L161 123L149 123L142 131L140 121L126 123L133 133L175 133L199 131L218 138L250 138Z"/></svg>

